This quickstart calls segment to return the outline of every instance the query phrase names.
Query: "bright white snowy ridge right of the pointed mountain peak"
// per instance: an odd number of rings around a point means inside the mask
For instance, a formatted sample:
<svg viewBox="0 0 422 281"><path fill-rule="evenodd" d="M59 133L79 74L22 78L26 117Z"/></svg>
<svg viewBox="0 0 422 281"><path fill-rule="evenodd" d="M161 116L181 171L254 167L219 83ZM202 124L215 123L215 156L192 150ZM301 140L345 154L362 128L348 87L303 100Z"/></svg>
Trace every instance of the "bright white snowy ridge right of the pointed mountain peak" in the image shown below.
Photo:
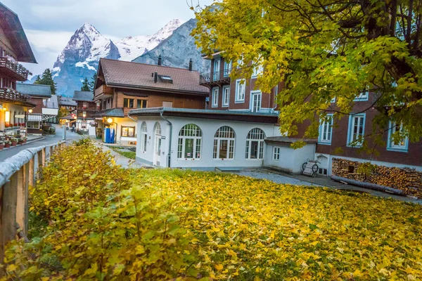
<svg viewBox="0 0 422 281"><path fill-rule="evenodd" d="M120 41L116 41L115 44L119 48L121 60L133 60L134 58L143 55L147 51L155 48L164 39L173 34L174 30L181 25L180 20L171 20L170 22L158 30L157 33L150 36L137 36L137 37L126 37Z"/></svg>

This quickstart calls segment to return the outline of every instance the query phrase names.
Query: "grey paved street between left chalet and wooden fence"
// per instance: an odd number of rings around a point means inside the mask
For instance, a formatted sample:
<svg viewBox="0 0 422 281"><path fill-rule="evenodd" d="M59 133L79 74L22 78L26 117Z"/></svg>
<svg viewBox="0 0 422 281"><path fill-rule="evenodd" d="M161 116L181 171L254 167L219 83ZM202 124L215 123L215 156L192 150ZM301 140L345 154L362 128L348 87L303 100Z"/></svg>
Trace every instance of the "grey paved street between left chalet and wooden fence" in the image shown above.
<svg viewBox="0 0 422 281"><path fill-rule="evenodd" d="M50 145L53 143L58 143L59 141L63 139L63 128L62 126L59 126L59 125L55 125L55 126L56 126L56 136L45 137L37 141L33 141L32 143L15 146L7 150L0 150L0 162L4 161L8 157L18 154L18 152L25 150L27 148L37 148L38 146L41 146L41 145ZM68 141L75 141L75 140L78 140L79 138L82 138L82 136L78 135L77 133L72 133L70 131L66 132L66 139Z"/></svg>

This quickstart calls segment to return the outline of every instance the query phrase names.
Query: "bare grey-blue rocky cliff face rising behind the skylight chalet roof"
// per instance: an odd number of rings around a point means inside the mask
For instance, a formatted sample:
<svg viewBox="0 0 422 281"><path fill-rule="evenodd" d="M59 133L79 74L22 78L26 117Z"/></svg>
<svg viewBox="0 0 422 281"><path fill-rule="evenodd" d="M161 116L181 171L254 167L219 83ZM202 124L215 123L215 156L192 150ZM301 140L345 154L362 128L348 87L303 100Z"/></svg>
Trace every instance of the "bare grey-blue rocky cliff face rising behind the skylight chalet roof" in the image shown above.
<svg viewBox="0 0 422 281"><path fill-rule="evenodd" d="M191 37L196 19L191 19L181 25L177 30L151 51L140 55L133 61L136 63L156 64L158 55L162 56L162 65L188 68L189 59L193 60L193 70L200 72L210 71L210 61L201 57L201 52Z"/></svg>

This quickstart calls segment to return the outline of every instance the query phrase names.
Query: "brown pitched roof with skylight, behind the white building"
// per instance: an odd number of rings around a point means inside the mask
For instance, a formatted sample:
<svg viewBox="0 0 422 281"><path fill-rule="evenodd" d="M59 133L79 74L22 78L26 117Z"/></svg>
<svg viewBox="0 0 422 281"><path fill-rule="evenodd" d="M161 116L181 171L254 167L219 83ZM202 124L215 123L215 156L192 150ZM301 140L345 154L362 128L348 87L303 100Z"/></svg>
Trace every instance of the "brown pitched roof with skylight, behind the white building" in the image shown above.
<svg viewBox="0 0 422 281"><path fill-rule="evenodd" d="M204 95L210 92L205 86L199 85L199 72L197 71L106 58L101 58L100 66L108 86L126 86L136 89L155 89ZM169 83L158 78L157 83L155 83L153 77L155 72L161 76L171 77L173 82Z"/></svg>

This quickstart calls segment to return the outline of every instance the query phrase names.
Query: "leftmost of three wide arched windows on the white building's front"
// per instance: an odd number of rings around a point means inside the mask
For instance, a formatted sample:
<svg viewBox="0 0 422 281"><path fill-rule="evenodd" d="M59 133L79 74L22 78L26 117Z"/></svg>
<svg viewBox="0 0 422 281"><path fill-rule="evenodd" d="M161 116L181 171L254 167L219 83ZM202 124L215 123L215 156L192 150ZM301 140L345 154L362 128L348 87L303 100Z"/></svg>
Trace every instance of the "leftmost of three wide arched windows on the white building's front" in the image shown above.
<svg viewBox="0 0 422 281"><path fill-rule="evenodd" d="M193 155L186 157L186 140L193 140ZM177 142L177 159L196 160L202 155L203 133L196 124L186 124L179 131L179 140Z"/></svg>

